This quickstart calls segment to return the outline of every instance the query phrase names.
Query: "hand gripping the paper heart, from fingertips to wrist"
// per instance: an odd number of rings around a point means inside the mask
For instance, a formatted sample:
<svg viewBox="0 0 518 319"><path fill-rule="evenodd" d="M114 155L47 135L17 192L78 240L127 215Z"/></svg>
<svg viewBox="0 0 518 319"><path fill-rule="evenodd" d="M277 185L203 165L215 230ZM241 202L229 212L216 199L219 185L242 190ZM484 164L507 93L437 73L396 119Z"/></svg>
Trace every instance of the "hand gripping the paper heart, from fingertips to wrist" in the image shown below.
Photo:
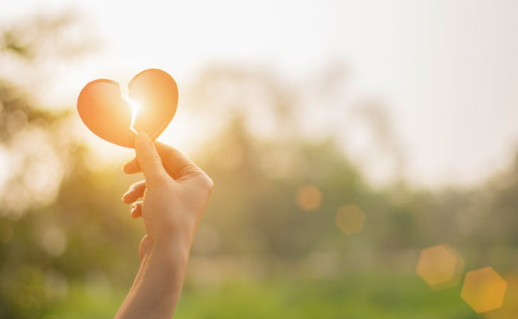
<svg viewBox="0 0 518 319"><path fill-rule="evenodd" d="M135 150L136 158L123 170L127 174L143 172L145 180L130 186L122 199L132 203L133 218L142 216L144 220L147 235L140 243L140 258L151 244L174 243L175 249L188 254L211 194L212 180L178 150L153 143L145 133L137 135Z"/></svg>

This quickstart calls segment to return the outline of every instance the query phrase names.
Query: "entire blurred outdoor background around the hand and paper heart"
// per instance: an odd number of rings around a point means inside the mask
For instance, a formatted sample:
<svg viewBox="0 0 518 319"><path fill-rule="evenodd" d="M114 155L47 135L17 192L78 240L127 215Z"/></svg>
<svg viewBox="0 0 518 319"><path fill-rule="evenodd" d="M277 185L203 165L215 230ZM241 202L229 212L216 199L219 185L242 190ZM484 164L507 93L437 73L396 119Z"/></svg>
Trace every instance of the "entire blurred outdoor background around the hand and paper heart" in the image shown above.
<svg viewBox="0 0 518 319"><path fill-rule="evenodd" d="M142 177L75 101L148 68L215 182L177 318L517 318L517 57L512 0L1 2L0 318L119 308Z"/></svg>

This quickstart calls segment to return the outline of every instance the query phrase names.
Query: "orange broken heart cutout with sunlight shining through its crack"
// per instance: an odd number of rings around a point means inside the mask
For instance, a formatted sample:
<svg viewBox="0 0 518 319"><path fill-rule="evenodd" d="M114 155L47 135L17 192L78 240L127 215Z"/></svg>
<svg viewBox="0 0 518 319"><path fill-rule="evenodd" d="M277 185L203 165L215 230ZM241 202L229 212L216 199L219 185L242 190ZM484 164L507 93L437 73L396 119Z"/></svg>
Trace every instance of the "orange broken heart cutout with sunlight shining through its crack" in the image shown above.
<svg viewBox="0 0 518 319"><path fill-rule="evenodd" d="M175 116L178 87L160 69L146 69L128 84L129 99L110 79L89 82L79 93L77 111L95 135L124 147L133 147L136 133L158 138Z"/></svg>

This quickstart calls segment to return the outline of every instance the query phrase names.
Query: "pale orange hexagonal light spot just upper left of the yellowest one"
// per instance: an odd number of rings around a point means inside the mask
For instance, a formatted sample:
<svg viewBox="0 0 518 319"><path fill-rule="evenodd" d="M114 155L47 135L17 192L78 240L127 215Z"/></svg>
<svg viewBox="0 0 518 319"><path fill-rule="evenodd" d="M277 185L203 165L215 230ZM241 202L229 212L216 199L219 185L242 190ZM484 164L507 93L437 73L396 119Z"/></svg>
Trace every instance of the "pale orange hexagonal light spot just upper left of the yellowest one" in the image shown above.
<svg viewBox="0 0 518 319"><path fill-rule="evenodd" d="M417 274L431 289L455 286L461 281L464 259L451 246L442 244L421 250Z"/></svg>

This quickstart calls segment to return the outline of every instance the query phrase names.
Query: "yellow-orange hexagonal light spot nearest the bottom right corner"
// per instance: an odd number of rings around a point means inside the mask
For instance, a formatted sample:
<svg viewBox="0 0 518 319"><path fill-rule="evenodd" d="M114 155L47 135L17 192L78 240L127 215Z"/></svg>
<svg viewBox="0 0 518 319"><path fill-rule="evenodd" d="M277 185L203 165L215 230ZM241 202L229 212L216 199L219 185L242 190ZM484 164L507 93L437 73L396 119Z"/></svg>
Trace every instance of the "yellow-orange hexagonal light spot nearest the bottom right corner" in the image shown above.
<svg viewBox="0 0 518 319"><path fill-rule="evenodd" d="M485 313L502 307L507 282L492 267L468 272L461 297L476 313Z"/></svg>

